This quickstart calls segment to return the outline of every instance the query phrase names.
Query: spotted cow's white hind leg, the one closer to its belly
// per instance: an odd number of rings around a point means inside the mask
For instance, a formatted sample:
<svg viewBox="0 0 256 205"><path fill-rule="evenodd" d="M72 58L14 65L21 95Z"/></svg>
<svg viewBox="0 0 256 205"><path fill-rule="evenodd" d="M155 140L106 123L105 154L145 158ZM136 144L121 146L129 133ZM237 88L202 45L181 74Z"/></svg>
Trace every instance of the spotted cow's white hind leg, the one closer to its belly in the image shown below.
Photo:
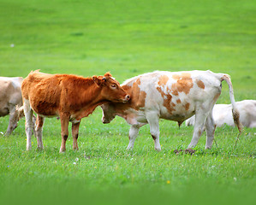
<svg viewBox="0 0 256 205"><path fill-rule="evenodd" d="M188 145L188 148L193 148L198 144L199 138L202 135L202 132L204 132L204 126L205 126L205 120L209 113L205 112L203 109L200 109L195 114L195 122L194 122L194 128L193 128L193 138Z"/></svg>

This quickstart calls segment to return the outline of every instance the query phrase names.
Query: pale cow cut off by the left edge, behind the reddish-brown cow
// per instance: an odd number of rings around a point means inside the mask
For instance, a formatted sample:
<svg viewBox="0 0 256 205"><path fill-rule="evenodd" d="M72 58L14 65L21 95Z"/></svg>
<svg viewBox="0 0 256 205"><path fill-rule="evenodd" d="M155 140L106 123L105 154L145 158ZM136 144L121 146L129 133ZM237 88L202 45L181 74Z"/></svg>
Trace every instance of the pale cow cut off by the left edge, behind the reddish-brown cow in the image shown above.
<svg viewBox="0 0 256 205"><path fill-rule="evenodd" d="M18 120L22 114L15 109L22 105L21 77L0 77L0 117L9 114L9 126L5 135L10 135L17 127Z"/></svg>

